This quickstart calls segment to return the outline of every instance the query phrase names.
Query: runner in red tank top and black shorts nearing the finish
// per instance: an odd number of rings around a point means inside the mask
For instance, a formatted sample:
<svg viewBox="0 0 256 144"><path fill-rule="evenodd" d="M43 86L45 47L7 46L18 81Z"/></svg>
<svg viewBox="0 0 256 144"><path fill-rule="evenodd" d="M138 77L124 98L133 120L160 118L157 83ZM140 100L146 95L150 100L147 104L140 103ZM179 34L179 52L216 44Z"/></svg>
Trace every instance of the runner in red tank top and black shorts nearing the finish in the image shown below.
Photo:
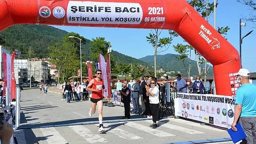
<svg viewBox="0 0 256 144"><path fill-rule="evenodd" d="M103 93L102 93L102 89L104 92L106 92L107 90L104 87L104 83L103 80L101 78L102 75L102 71L101 70L97 70L96 71L96 78L92 79L90 81L90 83L88 84L88 86L86 87L86 91L91 91L92 95L91 95L91 108L89 111L89 115L93 115L96 111L96 105L98 105L98 113L99 113L99 132L103 132L105 131L103 128L103 124L102 124L102 120L103 120L103 116L102 116L102 109L103 109Z"/></svg>

